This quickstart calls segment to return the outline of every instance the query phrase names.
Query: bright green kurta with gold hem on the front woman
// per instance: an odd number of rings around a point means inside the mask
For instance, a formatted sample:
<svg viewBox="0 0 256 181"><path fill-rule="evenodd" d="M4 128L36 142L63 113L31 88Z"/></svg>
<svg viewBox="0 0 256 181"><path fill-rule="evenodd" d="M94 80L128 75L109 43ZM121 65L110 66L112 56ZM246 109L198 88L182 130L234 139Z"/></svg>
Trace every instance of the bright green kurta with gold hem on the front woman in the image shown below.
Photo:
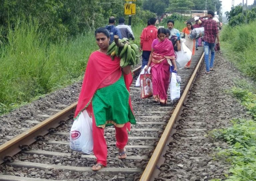
<svg viewBox="0 0 256 181"><path fill-rule="evenodd" d="M97 127L115 125L123 127L125 123L136 124L129 106L129 92L122 75L118 81L98 89L92 98L92 108Z"/></svg>

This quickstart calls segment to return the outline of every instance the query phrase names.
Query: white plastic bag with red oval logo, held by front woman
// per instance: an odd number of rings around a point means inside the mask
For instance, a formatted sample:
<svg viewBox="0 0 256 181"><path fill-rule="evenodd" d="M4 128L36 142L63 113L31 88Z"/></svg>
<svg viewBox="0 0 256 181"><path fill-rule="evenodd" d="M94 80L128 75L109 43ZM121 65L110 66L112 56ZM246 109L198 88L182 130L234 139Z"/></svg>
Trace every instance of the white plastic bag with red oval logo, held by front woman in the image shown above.
<svg viewBox="0 0 256 181"><path fill-rule="evenodd" d="M69 135L70 148L90 154L93 151L92 118L84 110L74 121Z"/></svg>

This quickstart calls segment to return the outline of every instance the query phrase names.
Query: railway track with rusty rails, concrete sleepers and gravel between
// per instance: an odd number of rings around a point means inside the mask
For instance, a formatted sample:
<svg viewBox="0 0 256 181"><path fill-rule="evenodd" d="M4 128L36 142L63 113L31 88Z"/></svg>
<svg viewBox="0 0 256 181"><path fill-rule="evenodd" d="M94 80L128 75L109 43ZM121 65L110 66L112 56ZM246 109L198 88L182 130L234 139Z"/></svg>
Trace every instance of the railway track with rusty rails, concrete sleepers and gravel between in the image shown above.
<svg viewBox="0 0 256 181"><path fill-rule="evenodd" d="M175 144L173 138L180 136L179 130L183 129L175 121L182 121L182 116L189 109L183 106L186 107L191 101L187 94L203 57L203 48L199 48L192 58L191 68L179 71L182 78L181 93L184 92L179 102L170 102L168 99L167 106L151 104L151 99L140 98L140 88L135 87L133 82L130 94L137 124L132 125L126 146L126 159L117 158L113 127L105 129L108 145L106 168L93 172L91 166L95 164L94 155L77 153L69 148L69 131L77 104L74 103L70 106L62 105L66 107L63 110L48 109L48 113L40 115L46 120L31 121L34 127L22 128L22 134L0 146L0 180L156 180L159 168L166 166L165 157L170 154L168 145ZM138 70L135 69L134 74ZM193 133L204 130L182 131Z"/></svg>

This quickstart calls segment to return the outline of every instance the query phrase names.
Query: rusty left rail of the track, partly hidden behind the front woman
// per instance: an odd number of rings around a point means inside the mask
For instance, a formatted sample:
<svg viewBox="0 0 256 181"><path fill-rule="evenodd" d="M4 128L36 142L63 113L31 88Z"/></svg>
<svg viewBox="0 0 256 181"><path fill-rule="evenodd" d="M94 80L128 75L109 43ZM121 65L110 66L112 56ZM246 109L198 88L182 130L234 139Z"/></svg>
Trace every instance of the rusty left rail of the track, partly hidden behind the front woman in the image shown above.
<svg viewBox="0 0 256 181"><path fill-rule="evenodd" d="M138 71L140 71L140 69L141 66L136 67L132 70L132 74L135 75ZM0 145L0 164L2 164L6 159L10 159L13 155L16 155L22 151L21 146L29 146L37 140L37 136L44 136L50 132L49 129L58 127L60 125L60 120L68 120L70 114L72 114L72 110L76 109L76 106L77 102Z"/></svg>

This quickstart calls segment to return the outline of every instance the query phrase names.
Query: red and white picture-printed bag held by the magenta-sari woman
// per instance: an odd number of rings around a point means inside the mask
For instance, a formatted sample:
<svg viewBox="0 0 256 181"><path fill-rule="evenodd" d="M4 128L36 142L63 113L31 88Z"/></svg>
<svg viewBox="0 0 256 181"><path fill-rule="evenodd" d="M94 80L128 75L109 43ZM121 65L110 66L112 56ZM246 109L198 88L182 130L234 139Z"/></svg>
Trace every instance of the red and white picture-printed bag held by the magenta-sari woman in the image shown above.
<svg viewBox="0 0 256 181"><path fill-rule="evenodd" d="M140 96L141 98L153 96L152 76L148 72L140 75Z"/></svg>

